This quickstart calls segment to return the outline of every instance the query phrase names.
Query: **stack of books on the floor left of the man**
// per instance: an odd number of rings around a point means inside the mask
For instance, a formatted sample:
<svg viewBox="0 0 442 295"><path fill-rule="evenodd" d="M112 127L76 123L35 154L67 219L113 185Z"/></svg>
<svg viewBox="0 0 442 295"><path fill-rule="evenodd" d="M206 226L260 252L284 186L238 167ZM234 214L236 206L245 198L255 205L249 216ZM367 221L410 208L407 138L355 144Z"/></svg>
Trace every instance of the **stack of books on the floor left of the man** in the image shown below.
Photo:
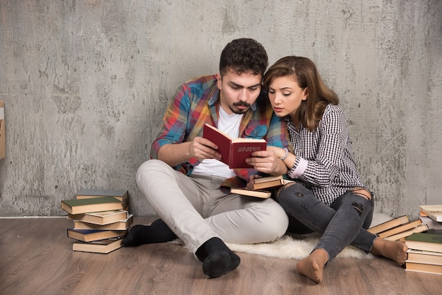
<svg viewBox="0 0 442 295"><path fill-rule="evenodd" d="M82 189L75 199L62 200L61 209L73 220L73 227L67 229L68 237L76 240L73 251L117 250L133 222L128 191Z"/></svg>

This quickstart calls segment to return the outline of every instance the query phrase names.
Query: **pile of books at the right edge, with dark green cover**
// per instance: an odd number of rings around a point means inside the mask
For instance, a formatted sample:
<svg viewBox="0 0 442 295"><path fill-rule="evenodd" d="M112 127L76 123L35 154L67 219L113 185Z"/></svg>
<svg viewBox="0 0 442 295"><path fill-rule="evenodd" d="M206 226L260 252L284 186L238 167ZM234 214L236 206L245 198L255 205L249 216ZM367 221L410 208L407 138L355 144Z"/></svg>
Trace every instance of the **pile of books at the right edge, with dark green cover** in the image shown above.
<svg viewBox="0 0 442 295"><path fill-rule="evenodd" d="M419 206L419 215L429 229L405 238L405 270L442 275L442 205Z"/></svg>

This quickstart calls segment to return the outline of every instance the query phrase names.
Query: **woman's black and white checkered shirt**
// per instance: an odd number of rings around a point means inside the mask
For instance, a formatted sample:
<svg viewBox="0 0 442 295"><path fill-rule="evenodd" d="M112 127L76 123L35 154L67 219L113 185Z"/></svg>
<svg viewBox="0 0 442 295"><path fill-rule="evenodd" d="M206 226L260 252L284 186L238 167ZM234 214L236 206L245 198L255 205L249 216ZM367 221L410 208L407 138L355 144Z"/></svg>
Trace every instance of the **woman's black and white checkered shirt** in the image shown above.
<svg viewBox="0 0 442 295"><path fill-rule="evenodd" d="M297 156L289 177L306 183L327 205L350 188L365 188L352 155L347 119L338 106L328 104L313 132L302 125L297 131L289 117L287 126Z"/></svg>

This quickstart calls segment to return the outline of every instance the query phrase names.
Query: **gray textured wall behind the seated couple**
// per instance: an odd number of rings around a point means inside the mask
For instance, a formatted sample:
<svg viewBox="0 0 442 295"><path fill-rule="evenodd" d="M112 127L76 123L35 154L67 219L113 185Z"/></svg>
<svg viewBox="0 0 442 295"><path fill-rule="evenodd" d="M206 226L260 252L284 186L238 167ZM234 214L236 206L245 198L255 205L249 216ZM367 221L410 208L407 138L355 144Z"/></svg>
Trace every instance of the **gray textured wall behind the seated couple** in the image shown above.
<svg viewBox="0 0 442 295"><path fill-rule="evenodd" d="M0 216L64 215L80 188L129 190L180 83L237 37L308 56L350 119L377 210L441 203L442 1L0 1ZM166 198L167 196L165 196Z"/></svg>

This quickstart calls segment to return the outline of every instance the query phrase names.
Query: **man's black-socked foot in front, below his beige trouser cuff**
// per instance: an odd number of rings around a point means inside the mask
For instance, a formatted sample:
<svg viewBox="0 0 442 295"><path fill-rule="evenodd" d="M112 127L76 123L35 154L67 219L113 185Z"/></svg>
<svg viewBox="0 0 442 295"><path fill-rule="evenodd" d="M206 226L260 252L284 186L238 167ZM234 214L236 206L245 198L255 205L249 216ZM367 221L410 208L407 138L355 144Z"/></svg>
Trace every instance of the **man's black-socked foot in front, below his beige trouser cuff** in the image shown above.
<svg viewBox="0 0 442 295"><path fill-rule="evenodd" d="M196 257L203 261L203 272L209 277L221 277L237 268L241 261L219 238L205 241L196 251Z"/></svg>

